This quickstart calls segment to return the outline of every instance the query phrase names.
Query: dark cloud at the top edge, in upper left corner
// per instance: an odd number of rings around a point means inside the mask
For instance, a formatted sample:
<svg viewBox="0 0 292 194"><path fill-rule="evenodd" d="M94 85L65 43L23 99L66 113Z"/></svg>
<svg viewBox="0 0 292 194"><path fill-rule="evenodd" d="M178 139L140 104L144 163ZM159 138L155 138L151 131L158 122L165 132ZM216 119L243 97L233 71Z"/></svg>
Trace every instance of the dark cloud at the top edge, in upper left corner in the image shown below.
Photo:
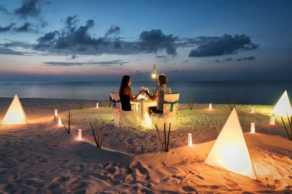
<svg viewBox="0 0 292 194"><path fill-rule="evenodd" d="M18 15L22 19L27 17L40 17L41 7L50 4L51 1L45 0L22 0L21 7L14 10L15 15Z"/></svg>

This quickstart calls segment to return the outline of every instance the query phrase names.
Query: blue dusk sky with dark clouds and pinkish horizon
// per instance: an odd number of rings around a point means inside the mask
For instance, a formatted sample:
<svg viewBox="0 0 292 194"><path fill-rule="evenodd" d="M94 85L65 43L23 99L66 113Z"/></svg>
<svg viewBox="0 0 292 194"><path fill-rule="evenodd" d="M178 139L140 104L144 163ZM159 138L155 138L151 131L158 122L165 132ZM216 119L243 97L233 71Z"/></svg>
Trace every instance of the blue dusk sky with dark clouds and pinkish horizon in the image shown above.
<svg viewBox="0 0 292 194"><path fill-rule="evenodd" d="M292 81L292 1L1 0L0 81Z"/></svg>

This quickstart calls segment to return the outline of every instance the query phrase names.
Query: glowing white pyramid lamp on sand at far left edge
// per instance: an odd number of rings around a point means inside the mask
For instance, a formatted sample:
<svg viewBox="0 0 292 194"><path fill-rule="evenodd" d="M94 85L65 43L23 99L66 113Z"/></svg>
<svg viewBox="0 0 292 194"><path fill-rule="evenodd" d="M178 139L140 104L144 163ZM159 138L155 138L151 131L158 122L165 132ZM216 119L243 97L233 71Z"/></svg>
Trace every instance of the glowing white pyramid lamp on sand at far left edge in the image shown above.
<svg viewBox="0 0 292 194"><path fill-rule="evenodd" d="M1 125L2 124L27 124L26 116L17 94L15 94L8 111L1 122Z"/></svg>

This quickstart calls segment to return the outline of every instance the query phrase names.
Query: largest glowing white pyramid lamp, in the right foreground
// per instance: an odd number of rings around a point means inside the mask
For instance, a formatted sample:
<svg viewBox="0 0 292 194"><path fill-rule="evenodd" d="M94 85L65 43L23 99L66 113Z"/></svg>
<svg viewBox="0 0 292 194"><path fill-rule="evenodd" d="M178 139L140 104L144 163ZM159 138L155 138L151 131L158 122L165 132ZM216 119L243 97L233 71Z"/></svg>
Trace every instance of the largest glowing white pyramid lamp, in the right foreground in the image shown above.
<svg viewBox="0 0 292 194"><path fill-rule="evenodd" d="M205 163L257 180L235 107Z"/></svg>

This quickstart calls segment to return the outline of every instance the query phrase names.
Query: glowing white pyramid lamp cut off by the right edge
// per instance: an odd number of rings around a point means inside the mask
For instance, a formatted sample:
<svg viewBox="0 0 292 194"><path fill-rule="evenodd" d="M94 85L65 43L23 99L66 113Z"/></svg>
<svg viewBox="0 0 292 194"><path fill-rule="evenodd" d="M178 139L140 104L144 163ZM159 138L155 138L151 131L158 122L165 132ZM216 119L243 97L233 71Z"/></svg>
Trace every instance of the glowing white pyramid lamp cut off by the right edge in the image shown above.
<svg viewBox="0 0 292 194"><path fill-rule="evenodd" d="M287 90L283 93L279 101L274 107L275 115L281 115L281 116L287 116L286 111L288 112L288 115L291 116L291 104L288 98ZM273 111L271 112L273 114Z"/></svg>

